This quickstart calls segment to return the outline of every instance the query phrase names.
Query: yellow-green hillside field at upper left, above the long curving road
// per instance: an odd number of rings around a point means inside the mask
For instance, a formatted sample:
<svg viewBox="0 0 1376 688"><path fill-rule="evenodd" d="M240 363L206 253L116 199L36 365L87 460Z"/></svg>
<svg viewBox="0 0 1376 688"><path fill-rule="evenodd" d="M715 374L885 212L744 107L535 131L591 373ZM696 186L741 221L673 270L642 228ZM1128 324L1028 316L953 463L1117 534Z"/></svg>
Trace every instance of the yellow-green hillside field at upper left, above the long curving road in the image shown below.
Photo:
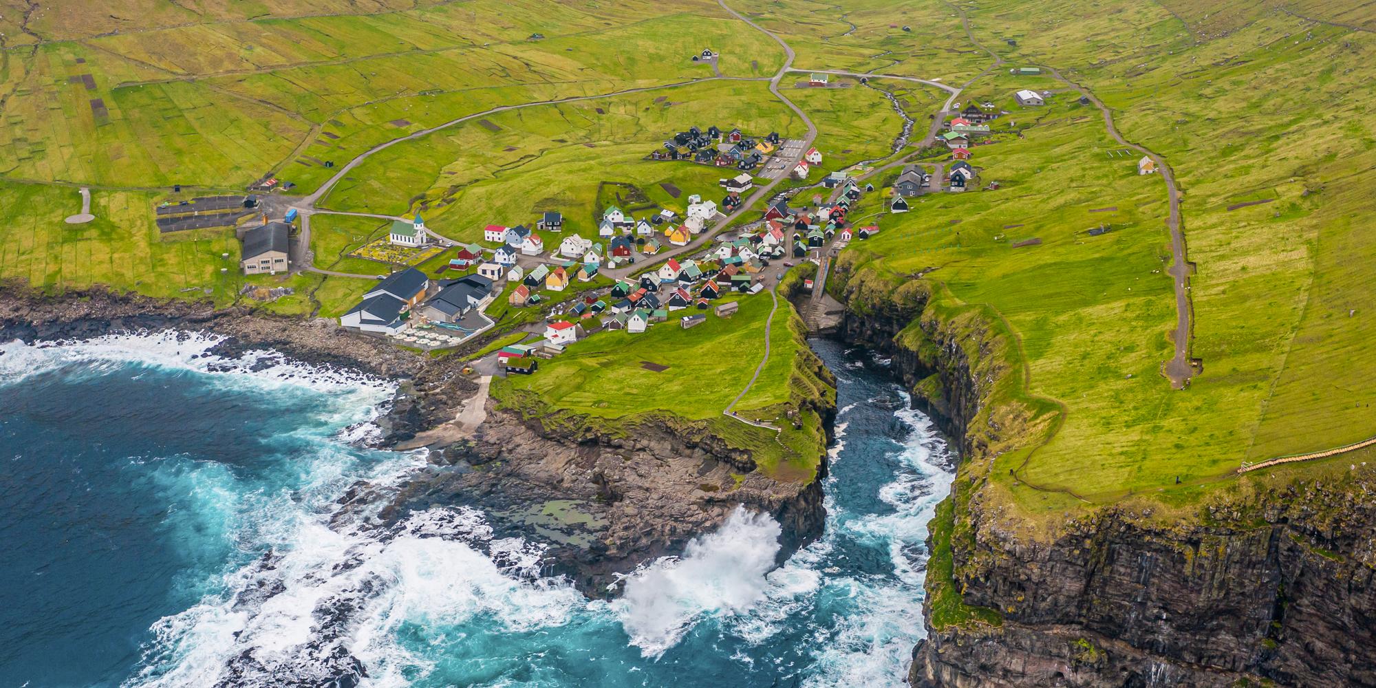
<svg viewBox="0 0 1376 688"><path fill-rule="evenodd" d="M462 114L711 76L689 59L703 47L722 51L721 70L733 76L765 76L782 61L696 0L615 11L544 0L372 14L316 6L266 7L252 19L202 7L202 22L118 32L34 22L44 41L6 51L0 70L0 173L238 189L277 172L311 190L329 176L326 161Z"/></svg>

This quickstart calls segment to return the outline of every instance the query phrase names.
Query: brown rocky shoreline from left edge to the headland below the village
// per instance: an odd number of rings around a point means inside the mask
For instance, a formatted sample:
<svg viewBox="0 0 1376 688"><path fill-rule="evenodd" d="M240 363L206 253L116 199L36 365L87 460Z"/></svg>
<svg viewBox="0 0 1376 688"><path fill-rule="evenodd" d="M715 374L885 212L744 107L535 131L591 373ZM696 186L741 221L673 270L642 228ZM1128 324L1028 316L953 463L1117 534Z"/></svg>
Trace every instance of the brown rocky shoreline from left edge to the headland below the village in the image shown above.
<svg viewBox="0 0 1376 688"><path fill-rule="evenodd" d="M326 319L266 316L242 308L161 301L103 290L61 297L0 289L0 341L87 340L118 332L206 332L224 336L209 354L239 358L272 350L293 361L398 381L381 449L451 422L477 384L462 356L432 358L340 329ZM546 574L564 574L589 596L610 596L619 575L678 555L698 534L721 526L736 505L783 526L780 561L816 539L826 517L821 479L776 482L747 453L694 424L648 418L632 436L546 427L499 409L466 438L429 444L427 468L400 488L358 484L340 517L385 504L383 526L435 505L483 510L495 531L548 548ZM830 429L834 409L821 409Z"/></svg>

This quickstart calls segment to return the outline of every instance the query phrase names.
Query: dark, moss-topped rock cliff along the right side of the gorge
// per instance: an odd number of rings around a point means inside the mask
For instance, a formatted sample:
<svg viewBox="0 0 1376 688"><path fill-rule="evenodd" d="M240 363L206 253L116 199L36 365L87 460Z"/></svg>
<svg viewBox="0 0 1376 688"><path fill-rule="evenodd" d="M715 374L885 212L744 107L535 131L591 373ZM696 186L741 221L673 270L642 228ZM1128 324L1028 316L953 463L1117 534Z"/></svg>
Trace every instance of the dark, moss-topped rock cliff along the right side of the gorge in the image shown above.
<svg viewBox="0 0 1376 688"><path fill-rule="evenodd" d="M890 356L962 450L912 685L1376 685L1376 472L1278 471L1186 506L1084 505L1029 527L989 471L1051 414L1010 392L1022 373L996 314L841 274L839 336Z"/></svg>

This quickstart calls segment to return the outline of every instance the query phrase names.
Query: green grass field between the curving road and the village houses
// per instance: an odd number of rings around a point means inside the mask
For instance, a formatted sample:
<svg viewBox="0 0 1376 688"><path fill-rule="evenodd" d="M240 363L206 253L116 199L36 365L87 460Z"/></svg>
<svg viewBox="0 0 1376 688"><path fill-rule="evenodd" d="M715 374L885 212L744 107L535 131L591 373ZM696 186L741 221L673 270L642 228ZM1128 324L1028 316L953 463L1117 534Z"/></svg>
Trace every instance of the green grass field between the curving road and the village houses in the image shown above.
<svg viewBox="0 0 1376 688"><path fill-rule="evenodd" d="M557 209L566 233L586 235L596 228L600 182L634 184L680 212L694 193L720 200L717 180L727 171L644 160L674 132L709 124L782 135L802 129L762 83L707 83L513 110L486 121L498 129L471 121L385 149L323 202L381 213L420 209L427 224L460 241L479 238L490 223L531 223L537 212ZM666 183L681 195L673 198Z"/></svg>

